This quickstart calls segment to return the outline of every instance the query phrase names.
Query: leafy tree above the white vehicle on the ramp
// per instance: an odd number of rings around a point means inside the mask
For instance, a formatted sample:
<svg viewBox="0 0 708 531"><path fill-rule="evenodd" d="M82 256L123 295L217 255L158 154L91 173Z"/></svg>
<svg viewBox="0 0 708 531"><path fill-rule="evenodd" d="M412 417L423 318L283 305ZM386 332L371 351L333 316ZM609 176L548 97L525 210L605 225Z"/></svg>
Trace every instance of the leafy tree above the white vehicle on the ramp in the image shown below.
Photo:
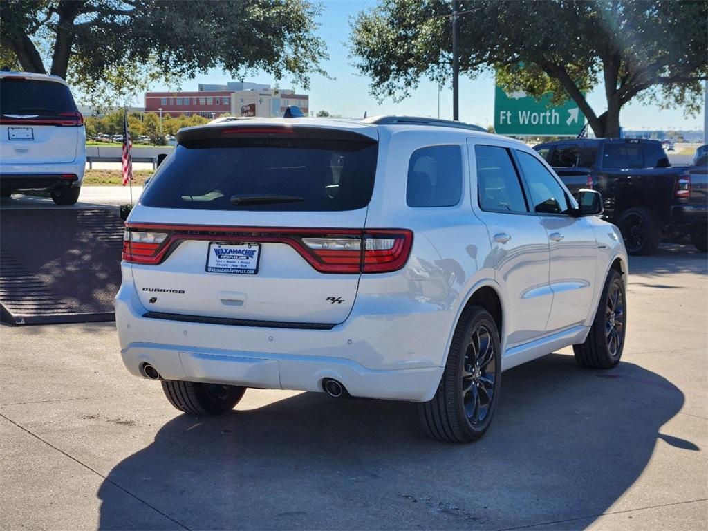
<svg viewBox="0 0 708 531"><path fill-rule="evenodd" d="M321 8L308 0L4 0L0 59L69 79L120 103L156 79L212 67L243 78L292 74L307 88L324 73ZM99 98L100 99L100 98Z"/></svg>

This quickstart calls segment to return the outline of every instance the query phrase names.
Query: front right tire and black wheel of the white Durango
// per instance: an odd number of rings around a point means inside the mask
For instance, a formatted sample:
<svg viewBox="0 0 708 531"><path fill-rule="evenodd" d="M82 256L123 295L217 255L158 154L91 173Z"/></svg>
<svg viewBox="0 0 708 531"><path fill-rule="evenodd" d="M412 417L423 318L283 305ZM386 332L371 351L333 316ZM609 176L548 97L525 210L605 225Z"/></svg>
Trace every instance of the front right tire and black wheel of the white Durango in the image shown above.
<svg viewBox="0 0 708 531"><path fill-rule="evenodd" d="M627 333L627 293L622 275L610 269L585 343L573 345L581 367L611 369L619 363Z"/></svg>

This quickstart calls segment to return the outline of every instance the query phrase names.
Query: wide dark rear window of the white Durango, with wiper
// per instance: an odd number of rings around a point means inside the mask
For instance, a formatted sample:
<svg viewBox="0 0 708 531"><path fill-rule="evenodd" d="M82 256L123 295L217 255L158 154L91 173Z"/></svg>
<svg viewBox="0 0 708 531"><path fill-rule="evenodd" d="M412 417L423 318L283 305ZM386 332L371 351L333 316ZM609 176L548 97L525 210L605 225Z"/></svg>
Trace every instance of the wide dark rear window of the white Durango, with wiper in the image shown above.
<svg viewBox="0 0 708 531"><path fill-rule="evenodd" d="M140 202L190 210L357 210L369 204L377 144L331 139L179 144Z"/></svg>

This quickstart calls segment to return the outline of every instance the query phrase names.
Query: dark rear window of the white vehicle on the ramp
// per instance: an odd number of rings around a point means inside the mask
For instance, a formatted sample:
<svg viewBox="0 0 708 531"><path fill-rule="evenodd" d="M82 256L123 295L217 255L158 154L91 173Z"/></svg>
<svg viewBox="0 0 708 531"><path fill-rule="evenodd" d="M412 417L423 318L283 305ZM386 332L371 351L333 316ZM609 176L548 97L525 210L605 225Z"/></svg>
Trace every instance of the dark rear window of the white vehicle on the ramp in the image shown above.
<svg viewBox="0 0 708 531"><path fill-rule="evenodd" d="M74 112L76 104L66 85L35 79L0 79L0 113L4 115Z"/></svg>

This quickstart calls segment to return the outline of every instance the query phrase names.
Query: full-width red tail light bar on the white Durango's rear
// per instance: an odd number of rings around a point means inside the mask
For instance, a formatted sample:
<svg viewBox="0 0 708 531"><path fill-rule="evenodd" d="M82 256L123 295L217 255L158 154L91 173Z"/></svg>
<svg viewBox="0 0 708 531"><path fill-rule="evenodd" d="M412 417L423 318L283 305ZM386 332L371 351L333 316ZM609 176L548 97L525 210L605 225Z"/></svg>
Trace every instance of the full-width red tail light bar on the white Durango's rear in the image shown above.
<svg viewBox="0 0 708 531"><path fill-rule="evenodd" d="M125 230L122 258L156 265L186 240L287 244L321 273L390 273L406 264L413 232L132 224Z"/></svg>

